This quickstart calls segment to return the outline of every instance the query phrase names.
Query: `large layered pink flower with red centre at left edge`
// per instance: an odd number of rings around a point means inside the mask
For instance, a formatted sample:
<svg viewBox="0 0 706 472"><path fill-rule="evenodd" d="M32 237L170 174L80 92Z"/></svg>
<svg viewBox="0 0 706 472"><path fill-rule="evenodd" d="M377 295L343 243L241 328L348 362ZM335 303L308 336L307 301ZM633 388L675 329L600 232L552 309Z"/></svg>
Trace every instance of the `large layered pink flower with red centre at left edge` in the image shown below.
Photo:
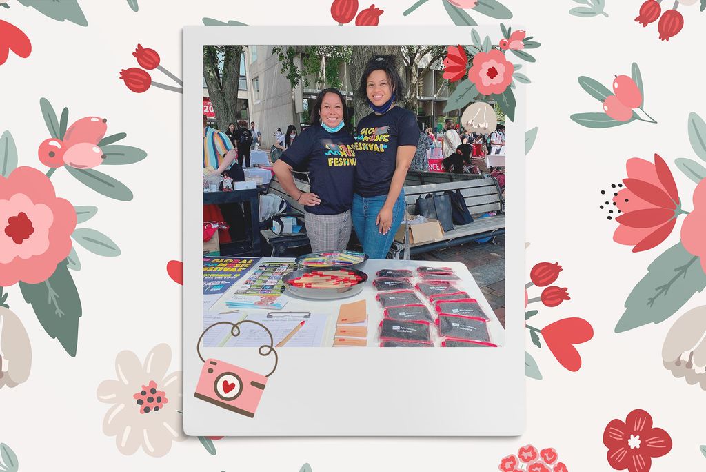
<svg viewBox="0 0 706 472"><path fill-rule="evenodd" d="M71 252L76 211L32 167L0 175L0 286L40 283Z"/></svg>

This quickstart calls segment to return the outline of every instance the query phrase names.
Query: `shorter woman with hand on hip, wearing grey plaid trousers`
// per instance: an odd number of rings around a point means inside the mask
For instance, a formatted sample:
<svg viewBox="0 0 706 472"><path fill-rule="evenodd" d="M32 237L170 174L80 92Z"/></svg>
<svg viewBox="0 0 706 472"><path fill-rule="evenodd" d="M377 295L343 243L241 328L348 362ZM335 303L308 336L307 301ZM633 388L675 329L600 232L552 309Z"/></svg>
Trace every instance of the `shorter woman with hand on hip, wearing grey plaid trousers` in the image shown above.
<svg viewBox="0 0 706 472"><path fill-rule="evenodd" d="M335 88L321 90L311 113L311 126L287 146L273 166L289 196L304 205L304 224L312 252L345 251L351 235L355 178L355 142L345 125L346 100ZM294 168L309 171L310 191L302 192Z"/></svg>

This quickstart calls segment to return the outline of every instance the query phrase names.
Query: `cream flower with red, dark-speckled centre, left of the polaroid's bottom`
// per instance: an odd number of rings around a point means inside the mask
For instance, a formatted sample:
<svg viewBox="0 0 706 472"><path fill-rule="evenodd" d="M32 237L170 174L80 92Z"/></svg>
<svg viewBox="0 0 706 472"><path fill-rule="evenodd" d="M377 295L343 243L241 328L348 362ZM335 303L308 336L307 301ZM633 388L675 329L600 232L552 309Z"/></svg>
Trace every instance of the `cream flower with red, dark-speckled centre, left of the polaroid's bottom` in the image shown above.
<svg viewBox="0 0 706 472"><path fill-rule="evenodd" d="M172 441L186 439L181 428L181 371L167 374L172 350L155 346L140 365L129 350L115 359L116 380L104 380L97 396L112 403L103 418L103 432L115 436L122 454L134 454L140 445L150 456L164 456Z"/></svg>

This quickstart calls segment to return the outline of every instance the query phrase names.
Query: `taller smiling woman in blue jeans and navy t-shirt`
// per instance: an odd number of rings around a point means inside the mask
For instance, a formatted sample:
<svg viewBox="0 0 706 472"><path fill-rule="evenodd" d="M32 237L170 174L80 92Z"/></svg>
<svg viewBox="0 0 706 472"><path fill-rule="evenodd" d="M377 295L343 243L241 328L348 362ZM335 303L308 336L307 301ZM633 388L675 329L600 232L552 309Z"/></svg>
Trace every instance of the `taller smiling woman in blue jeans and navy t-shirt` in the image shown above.
<svg viewBox="0 0 706 472"><path fill-rule="evenodd" d="M371 259L385 259L405 215L407 170L419 143L417 117L395 105L405 97L397 57L373 56L358 95L372 112L357 124L353 228Z"/></svg>

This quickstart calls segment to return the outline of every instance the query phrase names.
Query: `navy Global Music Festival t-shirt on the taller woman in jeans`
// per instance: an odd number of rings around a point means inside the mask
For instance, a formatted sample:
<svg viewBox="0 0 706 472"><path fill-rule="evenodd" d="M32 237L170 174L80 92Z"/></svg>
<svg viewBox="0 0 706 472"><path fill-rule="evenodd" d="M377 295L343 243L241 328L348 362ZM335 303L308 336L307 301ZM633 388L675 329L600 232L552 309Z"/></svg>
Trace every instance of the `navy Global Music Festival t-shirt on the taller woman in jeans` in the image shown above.
<svg viewBox="0 0 706 472"><path fill-rule="evenodd" d="M358 159L355 192L360 196L386 195L397 165L397 146L417 147L419 126L409 110L395 105L385 114L371 113L360 120L354 149Z"/></svg>

